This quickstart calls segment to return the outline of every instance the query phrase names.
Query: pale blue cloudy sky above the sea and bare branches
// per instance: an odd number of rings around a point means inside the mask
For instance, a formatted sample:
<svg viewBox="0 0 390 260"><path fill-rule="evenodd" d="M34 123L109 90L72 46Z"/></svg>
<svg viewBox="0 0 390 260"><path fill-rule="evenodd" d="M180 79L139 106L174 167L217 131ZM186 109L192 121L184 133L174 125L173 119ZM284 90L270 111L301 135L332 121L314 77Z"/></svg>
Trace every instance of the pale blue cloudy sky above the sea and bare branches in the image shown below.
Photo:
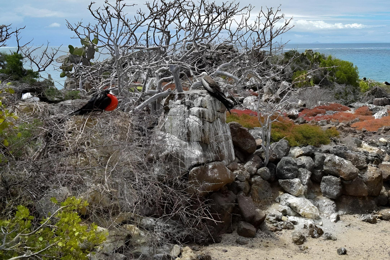
<svg viewBox="0 0 390 260"><path fill-rule="evenodd" d="M142 7L143 1L127 1ZM95 0L102 4L103 0ZM216 1L221 2L221 1ZM236 1L237 2L237 1ZM244 0L244 6L257 1ZM66 20L93 22L87 6L90 0L0 0L0 24L13 28L26 26L22 42L34 38L34 44L52 46L77 44ZM237 2L238 3L238 2ZM286 17L293 17L293 29L283 36L290 43L377 43L390 42L389 0L264 0L252 13L263 7L278 7ZM252 4L253 5L253 4ZM135 10L135 9L134 9ZM9 45L14 45L9 42Z"/></svg>

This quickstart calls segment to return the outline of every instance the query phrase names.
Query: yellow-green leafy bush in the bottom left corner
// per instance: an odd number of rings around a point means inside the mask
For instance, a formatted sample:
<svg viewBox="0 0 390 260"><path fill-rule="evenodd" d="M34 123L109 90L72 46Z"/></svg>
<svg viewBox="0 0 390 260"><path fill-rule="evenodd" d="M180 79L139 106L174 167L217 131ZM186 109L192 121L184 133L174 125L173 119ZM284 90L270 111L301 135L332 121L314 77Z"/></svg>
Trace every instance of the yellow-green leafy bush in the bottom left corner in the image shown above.
<svg viewBox="0 0 390 260"><path fill-rule="evenodd" d="M56 203L55 199L52 200ZM19 205L11 219L0 219L3 241L0 249L1 259L12 257L37 259L86 260L93 246L106 239L98 232L95 224L82 224L78 210L87 206L87 202L75 197L61 203L60 209L53 215L35 223L29 210Z"/></svg>

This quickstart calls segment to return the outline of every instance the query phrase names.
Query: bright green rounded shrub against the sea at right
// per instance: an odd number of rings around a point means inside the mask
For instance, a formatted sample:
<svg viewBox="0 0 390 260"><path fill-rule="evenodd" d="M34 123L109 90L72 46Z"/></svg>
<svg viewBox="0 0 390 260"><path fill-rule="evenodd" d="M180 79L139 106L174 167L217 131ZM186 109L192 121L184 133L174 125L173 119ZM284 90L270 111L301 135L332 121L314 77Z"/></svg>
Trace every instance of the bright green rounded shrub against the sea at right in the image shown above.
<svg viewBox="0 0 390 260"><path fill-rule="evenodd" d="M328 71L335 82L355 87L359 86L359 70L358 67L353 66L352 62L333 58L332 55L329 55L327 59L321 60L320 66L322 68L329 67Z"/></svg>

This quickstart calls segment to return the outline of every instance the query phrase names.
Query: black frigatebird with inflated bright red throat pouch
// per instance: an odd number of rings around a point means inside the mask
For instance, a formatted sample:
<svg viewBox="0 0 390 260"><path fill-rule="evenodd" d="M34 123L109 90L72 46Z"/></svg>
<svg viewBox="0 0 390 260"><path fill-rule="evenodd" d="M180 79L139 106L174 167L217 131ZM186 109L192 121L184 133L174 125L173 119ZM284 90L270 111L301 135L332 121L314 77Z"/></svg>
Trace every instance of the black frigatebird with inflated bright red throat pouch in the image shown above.
<svg viewBox="0 0 390 260"><path fill-rule="evenodd" d="M106 89L94 95L87 104L69 115L85 115L92 111L112 111L116 109L117 106L118 99L110 90Z"/></svg>

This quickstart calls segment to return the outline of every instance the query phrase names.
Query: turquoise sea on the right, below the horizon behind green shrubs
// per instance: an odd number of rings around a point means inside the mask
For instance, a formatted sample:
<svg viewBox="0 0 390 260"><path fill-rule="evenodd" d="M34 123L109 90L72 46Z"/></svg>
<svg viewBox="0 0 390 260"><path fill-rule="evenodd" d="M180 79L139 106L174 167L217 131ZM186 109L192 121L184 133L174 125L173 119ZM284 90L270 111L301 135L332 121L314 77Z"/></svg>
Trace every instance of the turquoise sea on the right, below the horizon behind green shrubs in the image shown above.
<svg viewBox="0 0 390 260"><path fill-rule="evenodd" d="M312 49L323 54L348 60L359 68L360 77L390 82L390 43L312 43L286 44L284 51Z"/></svg>

